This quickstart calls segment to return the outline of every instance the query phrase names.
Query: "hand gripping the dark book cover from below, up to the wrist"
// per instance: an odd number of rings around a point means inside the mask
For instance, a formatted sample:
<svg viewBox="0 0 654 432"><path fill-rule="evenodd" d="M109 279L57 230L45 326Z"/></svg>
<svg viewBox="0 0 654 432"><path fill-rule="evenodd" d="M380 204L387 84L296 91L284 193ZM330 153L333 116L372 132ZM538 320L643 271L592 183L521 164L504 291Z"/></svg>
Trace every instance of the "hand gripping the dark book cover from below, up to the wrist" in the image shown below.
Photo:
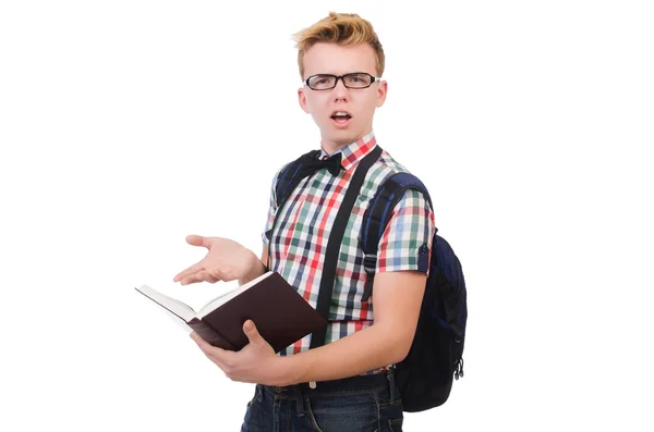
<svg viewBox="0 0 654 432"><path fill-rule="evenodd" d="M209 345L196 332L191 333L191 338L230 380L279 385L283 358L275 354L270 344L262 337L252 320L245 321L243 332L245 332L250 343L238 353Z"/></svg>

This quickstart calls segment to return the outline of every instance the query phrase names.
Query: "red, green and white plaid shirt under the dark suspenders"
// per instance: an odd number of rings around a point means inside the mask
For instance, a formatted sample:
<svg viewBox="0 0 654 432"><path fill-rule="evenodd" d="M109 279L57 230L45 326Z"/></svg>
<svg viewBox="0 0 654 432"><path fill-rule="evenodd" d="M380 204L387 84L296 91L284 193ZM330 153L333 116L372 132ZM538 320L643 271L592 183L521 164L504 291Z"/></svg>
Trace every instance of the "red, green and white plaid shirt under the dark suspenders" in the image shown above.
<svg viewBox="0 0 654 432"><path fill-rule="evenodd" d="M336 213L354 168L375 146L376 139L371 132L339 150L342 152L341 165L344 169L339 175L334 176L327 170L319 170L300 182L282 213L278 215L280 220L276 225L275 237L269 242L266 233L271 229L277 212L275 184L281 170L272 181L270 208L263 235L270 254L270 269L279 272L314 308L318 301L323 263ZM323 150L323 156L325 155ZM361 300L367 275L358 238L363 214L377 186L396 172L407 170L384 151L367 172L361 187L340 248L325 344L373 324L374 296L367 301ZM379 242L377 272L417 270L419 249L425 244L431 246L434 233L434 213L428 203L422 194L408 190L396 206ZM307 350L310 345L311 334L287 347L280 355L298 354Z"/></svg>

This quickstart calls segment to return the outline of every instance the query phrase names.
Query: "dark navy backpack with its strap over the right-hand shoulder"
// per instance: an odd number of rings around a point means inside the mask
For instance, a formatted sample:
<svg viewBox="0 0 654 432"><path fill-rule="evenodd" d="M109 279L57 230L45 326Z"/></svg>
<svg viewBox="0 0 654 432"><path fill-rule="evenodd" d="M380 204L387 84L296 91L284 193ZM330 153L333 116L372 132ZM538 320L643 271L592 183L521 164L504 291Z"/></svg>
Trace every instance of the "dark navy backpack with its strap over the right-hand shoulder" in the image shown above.
<svg viewBox="0 0 654 432"><path fill-rule="evenodd" d="M429 207L434 208L426 187L412 174L392 174L379 185L364 213L360 237L360 246L365 254L364 269L367 273L362 300L372 295L379 239L390 220L392 209L408 189L421 192ZM461 262L455 251L445 238L436 233L431 244L429 275L415 336L409 355L396 365L398 387L404 411L408 412L443 405L449 397L453 379L459 380L463 377L463 345L468 319L465 281ZM427 262L419 262L422 269L426 266Z"/></svg>

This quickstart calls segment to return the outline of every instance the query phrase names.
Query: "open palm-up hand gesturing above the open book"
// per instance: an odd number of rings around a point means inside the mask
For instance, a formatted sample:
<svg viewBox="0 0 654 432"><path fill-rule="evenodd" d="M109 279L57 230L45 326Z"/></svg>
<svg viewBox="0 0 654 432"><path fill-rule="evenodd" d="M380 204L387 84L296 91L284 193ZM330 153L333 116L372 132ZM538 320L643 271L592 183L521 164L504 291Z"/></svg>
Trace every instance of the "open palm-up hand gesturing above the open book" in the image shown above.
<svg viewBox="0 0 654 432"><path fill-rule="evenodd" d="M247 276L253 267L261 264L254 252L229 238L186 236L186 243L206 247L209 251L202 261L174 276L174 282L189 285L196 282L233 281Z"/></svg>

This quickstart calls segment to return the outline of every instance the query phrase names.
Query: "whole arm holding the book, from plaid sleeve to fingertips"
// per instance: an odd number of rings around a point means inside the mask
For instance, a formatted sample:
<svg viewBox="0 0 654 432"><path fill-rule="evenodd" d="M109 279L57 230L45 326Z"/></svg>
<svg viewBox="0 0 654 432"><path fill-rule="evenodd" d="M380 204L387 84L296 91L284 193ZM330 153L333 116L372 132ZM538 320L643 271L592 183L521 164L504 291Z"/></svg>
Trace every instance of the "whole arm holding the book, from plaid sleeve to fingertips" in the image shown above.
<svg viewBox="0 0 654 432"><path fill-rule="evenodd" d="M191 337L231 380L267 385L353 377L402 360L413 342L426 282L426 269L417 271L419 247L433 237L435 225L433 212L419 194L408 193L393 213L379 251L392 251L395 259L377 261L371 328L288 357L277 356L251 321L243 325L250 344L238 353L213 347L195 333Z"/></svg>

